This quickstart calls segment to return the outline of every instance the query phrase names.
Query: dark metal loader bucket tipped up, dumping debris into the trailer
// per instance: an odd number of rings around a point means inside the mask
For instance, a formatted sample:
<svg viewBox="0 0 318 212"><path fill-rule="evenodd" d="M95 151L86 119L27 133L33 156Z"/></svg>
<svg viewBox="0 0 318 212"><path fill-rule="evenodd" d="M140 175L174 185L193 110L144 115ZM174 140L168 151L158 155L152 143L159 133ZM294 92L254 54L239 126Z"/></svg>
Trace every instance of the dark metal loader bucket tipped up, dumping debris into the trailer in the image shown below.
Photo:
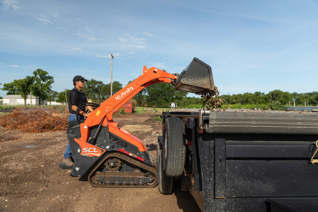
<svg viewBox="0 0 318 212"><path fill-rule="evenodd" d="M174 89L196 94L204 94L214 90L211 67L197 58L180 73L173 83Z"/></svg>

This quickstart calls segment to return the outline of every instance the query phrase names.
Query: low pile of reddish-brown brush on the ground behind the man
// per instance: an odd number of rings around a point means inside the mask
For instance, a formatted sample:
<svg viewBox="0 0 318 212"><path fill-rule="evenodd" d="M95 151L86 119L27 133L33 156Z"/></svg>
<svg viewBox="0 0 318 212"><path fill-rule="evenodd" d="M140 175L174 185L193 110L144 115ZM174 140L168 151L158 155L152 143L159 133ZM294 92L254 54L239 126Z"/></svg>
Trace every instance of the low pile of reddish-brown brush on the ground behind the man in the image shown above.
<svg viewBox="0 0 318 212"><path fill-rule="evenodd" d="M66 130L68 113L56 114L55 108L19 107L0 117L0 126L6 129L18 129L27 133Z"/></svg>

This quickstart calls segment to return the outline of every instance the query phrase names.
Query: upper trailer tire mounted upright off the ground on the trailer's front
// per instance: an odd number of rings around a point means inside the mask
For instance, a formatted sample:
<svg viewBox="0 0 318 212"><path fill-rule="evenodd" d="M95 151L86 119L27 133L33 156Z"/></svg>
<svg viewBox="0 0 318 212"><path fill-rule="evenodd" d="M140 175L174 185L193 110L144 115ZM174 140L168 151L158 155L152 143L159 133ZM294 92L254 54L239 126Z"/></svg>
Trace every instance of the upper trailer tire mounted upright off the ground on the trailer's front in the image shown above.
<svg viewBox="0 0 318 212"><path fill-rule="evenodd" d="M169 177L182 174L185 163L184 127L177 117L168 117L163 125L162 162L164 173Z"/></svg>

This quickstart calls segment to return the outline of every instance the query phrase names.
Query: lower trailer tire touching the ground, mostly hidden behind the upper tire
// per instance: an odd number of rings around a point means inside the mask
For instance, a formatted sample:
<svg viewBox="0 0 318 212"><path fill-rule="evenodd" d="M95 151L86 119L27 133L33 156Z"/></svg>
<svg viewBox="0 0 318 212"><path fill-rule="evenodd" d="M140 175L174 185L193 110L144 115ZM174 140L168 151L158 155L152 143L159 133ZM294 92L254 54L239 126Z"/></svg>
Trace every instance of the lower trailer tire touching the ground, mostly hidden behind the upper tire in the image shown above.
<svg viewBox="0 0 318 212"><path fill-rule="evenodd" d="M160 143L157 144L157 167L159 175L158 188L161 194L171 194L173 188L173 177L168 177L164 174L161 160Z"/></svg>

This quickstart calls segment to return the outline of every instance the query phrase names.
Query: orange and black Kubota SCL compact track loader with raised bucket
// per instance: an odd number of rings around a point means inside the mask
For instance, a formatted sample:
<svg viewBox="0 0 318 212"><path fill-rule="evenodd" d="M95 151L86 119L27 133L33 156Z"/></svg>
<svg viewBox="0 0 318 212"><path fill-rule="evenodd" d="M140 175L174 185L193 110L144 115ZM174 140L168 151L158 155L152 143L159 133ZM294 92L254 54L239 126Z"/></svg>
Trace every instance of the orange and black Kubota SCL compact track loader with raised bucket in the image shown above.
<svg viewBox="0 0 318 212"><path fill-rule="evenodd" d="M83 122L69 123L67 136L74 159L72 176L87 179L98 187L140 188L158 184L157 168L144 143L118 127L112 117L142 89L157 82L172 83L175 89L197 94L214 87L211 68L197 58L180 75L144 67L141 76L96 106Z"/></svg>

